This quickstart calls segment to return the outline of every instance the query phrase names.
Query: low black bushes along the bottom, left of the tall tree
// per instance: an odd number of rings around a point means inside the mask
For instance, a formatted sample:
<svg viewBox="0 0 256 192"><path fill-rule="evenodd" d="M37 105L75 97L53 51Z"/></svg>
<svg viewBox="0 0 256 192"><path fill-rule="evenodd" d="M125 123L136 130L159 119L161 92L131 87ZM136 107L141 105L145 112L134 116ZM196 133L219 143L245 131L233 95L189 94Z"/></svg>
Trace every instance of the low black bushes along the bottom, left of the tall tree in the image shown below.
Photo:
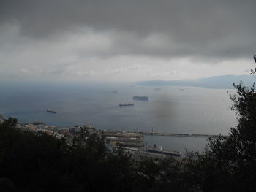
<svg viewBox="0 0 256 192"><path fill-rule="evenodd" d="M16 128L16 122L9 118L0 125L0 178L17 191L190 191L172 159L110 151L98 133L83 132L67 145L53 135Z"/></svg>

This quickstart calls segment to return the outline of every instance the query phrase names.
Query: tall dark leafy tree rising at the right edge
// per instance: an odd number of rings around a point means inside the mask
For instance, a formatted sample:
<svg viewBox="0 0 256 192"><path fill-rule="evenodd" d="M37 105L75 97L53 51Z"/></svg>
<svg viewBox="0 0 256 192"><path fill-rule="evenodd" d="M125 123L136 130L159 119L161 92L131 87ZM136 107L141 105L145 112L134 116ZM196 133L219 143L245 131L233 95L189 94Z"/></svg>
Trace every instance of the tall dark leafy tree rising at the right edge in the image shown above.
<svg viewBox="0 0 256 192"><path fill-rule="evenodd" d="M234 86L237 93L230 95L230 108L236 111L238 125L230 129L228 137L211 138L200 156L203 191L256 191L255 85L248 88L240 82Z"/></svg>

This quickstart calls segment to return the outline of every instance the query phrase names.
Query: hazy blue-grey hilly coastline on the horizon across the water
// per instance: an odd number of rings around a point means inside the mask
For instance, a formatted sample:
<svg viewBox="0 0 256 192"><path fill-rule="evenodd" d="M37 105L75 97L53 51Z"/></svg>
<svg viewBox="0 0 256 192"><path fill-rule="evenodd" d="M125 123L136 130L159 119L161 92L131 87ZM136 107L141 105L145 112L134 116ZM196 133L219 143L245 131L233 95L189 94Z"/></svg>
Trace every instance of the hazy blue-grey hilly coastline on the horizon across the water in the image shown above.
<svg viewBox="0 0 256 192"><path fill-rule="evenodd" d="M233 83L243 82L246 86L252 86L256 82L253 75L222 75L191 80L146 80L136 82L143 86L189 86L203 88L234 88Z"/></svg>

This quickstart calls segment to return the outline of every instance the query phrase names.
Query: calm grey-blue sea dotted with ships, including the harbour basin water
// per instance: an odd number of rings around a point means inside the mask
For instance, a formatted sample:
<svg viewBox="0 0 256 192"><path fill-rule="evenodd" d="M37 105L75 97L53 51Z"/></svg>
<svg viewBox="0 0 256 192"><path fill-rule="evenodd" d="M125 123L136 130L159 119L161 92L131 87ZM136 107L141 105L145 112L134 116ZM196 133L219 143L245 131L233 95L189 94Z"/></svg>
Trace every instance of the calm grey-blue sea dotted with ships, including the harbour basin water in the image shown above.
<svg viewBox="0 0 256 192"><path fill-rule="evenodd" d="M1 82L0 114L18 122L42 121L54 126L90 125L100 130L227 135L236 126L230 110L233 89L141 86L135 83ZM132 100L148 96L149 101ZM119 107L119 104L134 106ZM56 114L46 112L50 108ZM146 145L202 153L199 137L144 137Z"/></svg>

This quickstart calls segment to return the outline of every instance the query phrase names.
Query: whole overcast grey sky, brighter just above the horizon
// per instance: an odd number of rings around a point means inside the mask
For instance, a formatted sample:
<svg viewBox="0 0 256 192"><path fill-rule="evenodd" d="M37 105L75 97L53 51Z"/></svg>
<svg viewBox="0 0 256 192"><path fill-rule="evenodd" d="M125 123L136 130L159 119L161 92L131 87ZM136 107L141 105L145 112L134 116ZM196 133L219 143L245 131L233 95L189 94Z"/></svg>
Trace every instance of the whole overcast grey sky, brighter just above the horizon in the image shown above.
<svg viewBox="0 0 256 192"><path fill-rule="evenodd" d="M0 0L0 80L249 74L255 0Z"/></svg>

